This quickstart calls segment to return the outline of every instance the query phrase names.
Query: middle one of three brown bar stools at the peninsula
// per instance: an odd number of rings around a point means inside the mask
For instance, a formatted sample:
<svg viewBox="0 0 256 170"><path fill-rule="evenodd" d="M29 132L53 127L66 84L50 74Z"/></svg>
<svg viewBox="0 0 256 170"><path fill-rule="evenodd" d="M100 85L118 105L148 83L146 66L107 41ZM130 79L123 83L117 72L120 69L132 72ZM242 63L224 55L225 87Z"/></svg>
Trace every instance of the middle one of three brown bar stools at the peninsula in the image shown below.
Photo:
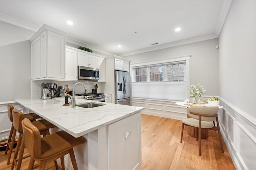
<svg viewBox="0 0 256 170"><path fill-rule="evenodd" d="M23 140L23 130L22 130L21 121L23 121L24 115L21 111L18 111L17 109L12 109L12 118L13 118L13 127L20 133L20 135L19 135L18 144L16 146L14 158L12 161L11 170L14 169L14 166L16 166L17 170L20 170L22 159L28 157L28 156L23 157L25 146L24 146L24 140ZM46 121L45 119L42 119L39 121L33 121L32 125L35 126L36 128L38 128L38 130L40 131L40 135L42 134L43 136L50 135L49 128L56 127L55 125ZM19 151L19 149L20 149L20 151ZM20 152L20 153L19 153L18 164L17 164L16 158L18 156L18 152Z"/></svg>

